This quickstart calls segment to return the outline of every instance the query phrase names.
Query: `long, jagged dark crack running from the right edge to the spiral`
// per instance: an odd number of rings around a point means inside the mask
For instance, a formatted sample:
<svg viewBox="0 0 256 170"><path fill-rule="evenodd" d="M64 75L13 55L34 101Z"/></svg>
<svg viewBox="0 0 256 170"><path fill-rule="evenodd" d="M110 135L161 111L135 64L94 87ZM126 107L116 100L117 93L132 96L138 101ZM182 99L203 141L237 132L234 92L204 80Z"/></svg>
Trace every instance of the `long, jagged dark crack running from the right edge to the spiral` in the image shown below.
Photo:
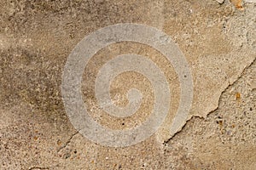
<svg viewBox="0 0 256 170"><path fill-rule="evenodd" d="M233 86L239 79L241 79L242 76L244 76L244 73L247 71L247 69L248 69L249 67L251 67L251 66L254 64L254 62L256 62L256 57L253 59L253 61L252 61L249 65L247 65L247 66L241 71L241 74L236 78L236 80L235 80L234 82L229 82L229 85L228 85L226 88L224 88L224 90L223 90L223 91L221 92L221 94L219 95L217 107L216 107L215 109L213 109L212 111L209 111L209 112L207 113L207 116L209 116L210 114L212 114L214 111L217 111L217 110L218 110L219 104L220 104L221 96L224 94L224 92L225 92L228 88L230 88L231 86ZM207 116L206 116L206 117L207 117ZM163 142L163 144L164 144L164 145L168 144L168 143L172 140L172 138L174 138L178 133L182 133L183 128L187 125L187 122L189 122L189 121L192 120L193 118L200 118L200 119L203 119L203 120L205 119L205 117L203 117L203 116L191 116L191 117L189 117L189 119L184 123L183 127L181 127L181 130L177 131L177 133L174 133L171 138L165 140L165 141Z"/></svg>

